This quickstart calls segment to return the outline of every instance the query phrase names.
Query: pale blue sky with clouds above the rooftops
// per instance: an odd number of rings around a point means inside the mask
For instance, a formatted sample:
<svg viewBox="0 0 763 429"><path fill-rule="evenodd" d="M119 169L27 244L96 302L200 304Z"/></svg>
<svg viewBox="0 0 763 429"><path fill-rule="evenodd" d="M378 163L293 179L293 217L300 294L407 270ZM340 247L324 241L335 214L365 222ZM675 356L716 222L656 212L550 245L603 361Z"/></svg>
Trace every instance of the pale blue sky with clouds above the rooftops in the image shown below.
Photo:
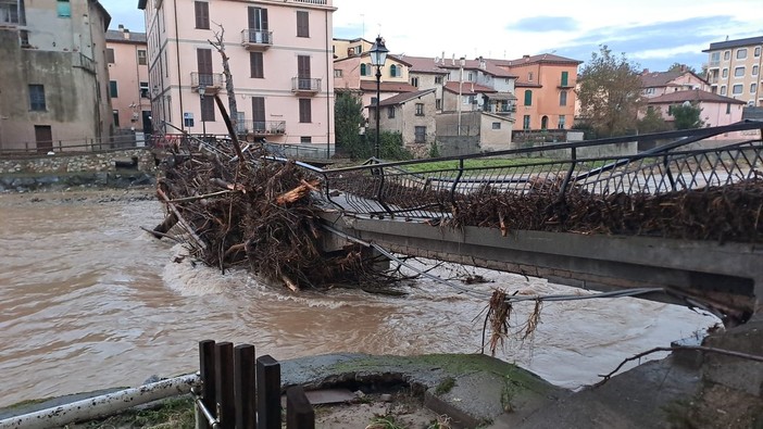
<svg viewBox="0 0 763 429"><path fill-rule="evenodd" d="M100 0L143 31L138 0ZM761 0L334 0L334 37L382 35L392 53L514 60L554 53L587 62L605 45L639 70L673 63L700 71L711 42L763 36ZM214 4L214 3L212 3Z"/></svg>

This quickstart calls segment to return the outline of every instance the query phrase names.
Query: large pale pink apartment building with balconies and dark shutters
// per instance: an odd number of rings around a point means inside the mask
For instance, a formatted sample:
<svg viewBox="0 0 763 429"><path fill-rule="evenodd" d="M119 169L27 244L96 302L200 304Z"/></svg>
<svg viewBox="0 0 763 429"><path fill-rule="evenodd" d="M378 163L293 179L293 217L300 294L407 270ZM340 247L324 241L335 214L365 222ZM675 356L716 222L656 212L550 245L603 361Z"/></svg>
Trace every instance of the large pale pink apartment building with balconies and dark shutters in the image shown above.
<svg viewBox="0 0 763 429"><path fill-rule="evenodd" d="M227 134L213 97L228 109L223 60L210 43L222 35L239 135L333 147L332 0L139 0L138 8L155 130Z"/></svg>

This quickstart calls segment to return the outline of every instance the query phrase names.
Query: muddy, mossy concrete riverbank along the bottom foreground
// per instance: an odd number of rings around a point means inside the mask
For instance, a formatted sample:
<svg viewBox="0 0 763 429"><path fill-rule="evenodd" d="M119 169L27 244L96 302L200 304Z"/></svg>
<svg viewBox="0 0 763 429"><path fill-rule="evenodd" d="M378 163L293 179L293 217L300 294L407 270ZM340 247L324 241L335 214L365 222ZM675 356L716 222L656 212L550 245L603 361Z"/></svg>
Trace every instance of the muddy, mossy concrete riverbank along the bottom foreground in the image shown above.
<svg viewBox="0 0 763 429"><path fill-rule="evenodd" d="M282 384L302 386L318 403L316 428L741 429L763 424L760 399L740 401L703 381L696 362L685 357L651 361L577 392L478 354L303 357L282 363ZM0 419L46 408L52 401L2 409ZM105 427L192 428L192 403L179 396L67 426Z"/></svg>

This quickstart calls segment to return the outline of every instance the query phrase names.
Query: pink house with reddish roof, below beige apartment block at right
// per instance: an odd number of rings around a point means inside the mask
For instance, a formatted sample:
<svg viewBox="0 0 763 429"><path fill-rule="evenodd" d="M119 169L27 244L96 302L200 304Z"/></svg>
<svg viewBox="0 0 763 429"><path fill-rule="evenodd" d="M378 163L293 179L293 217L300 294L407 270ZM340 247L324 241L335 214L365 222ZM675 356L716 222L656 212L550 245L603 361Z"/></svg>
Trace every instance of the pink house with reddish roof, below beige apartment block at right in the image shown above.
<svg viewBox="0 0 763 429"><path fill-rule="evenodd" d="M717 127L735 124L741 121L745 102L699 89L674 91L649 99L648 106L659 108L667 122L673 121L670 114L671 106L691 103L701 109L700 118L705 127ZM715 139L742 139L749 136L742 133L729 133L715 137Z"/></svg>

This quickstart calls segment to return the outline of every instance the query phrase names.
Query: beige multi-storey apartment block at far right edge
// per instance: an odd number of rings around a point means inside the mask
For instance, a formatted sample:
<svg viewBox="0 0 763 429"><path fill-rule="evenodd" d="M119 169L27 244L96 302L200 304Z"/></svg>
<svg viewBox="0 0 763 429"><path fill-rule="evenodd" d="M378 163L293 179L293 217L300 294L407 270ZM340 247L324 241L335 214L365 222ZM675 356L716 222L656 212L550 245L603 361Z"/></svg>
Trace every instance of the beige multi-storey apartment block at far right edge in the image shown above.
<svg viewBox="0 0 763 429"><path fill-rule="evenodd" d="M763 106L763 36L710 43L708 81L711 91Z"/></svg>

